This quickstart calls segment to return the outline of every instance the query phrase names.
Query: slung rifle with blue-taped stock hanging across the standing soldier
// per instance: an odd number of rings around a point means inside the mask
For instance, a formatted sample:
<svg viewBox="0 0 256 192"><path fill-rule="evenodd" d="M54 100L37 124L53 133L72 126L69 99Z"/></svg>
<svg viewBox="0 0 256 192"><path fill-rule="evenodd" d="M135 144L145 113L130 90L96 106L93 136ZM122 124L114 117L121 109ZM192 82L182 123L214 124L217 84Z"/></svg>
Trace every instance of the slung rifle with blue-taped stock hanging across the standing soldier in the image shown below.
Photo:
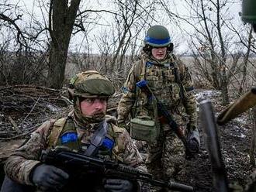
<svg viewBox="0 0 256 192"><path fill-rule="evenodd" d="M167 108L165 108L164 104L159 101L158 98L156 98L153 94L153 92L150 90L150 87L147 85L147 81L142 80L137 82L137 87L139 87L142 91L144 91L147 94L148 98L154 98L157 101L157 111L159 113L158 116L160 116L160 119L164 118L164 121L170 125L171 129L175 132L175 134L178 136L179 139L182 140L183 145L185 146L185 154L186 158L190 159L193 156L193 152L190 149L187 139L185 138L184 132L182 129L177 125Z"/></svg>

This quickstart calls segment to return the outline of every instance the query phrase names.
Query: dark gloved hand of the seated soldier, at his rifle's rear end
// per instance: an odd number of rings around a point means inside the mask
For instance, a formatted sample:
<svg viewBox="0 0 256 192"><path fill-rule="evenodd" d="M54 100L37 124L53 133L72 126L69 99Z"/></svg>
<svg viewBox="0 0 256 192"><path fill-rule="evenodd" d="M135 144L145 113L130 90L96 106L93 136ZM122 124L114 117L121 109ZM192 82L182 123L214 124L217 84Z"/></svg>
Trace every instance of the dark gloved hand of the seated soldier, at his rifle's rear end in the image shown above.
<svg viewBox="0 0 256 192"><path fill-rule="evenodd" d="M46 164L37 166L31 174L33 183L42 190L60 190L69 177L64 170Z"/></svg>

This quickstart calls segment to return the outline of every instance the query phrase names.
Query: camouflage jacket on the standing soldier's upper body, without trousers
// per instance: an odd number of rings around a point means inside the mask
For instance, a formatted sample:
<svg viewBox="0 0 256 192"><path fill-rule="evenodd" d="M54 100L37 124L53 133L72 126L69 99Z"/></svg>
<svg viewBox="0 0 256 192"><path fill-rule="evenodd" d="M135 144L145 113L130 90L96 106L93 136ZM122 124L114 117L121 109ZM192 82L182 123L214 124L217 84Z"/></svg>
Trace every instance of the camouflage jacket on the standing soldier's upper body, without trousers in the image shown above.
<svg viewBox="0 0 256 192"><path fill-rule="evenodd" d="M136 86L143 79L147 80L154 95L164 103L178 125L189 121L190 125L196 127L196 101L189 68L181 60L176 60L173 54L166 60L158 61L143 53L141 60L133 64L117 108L119 123L126 121L130 113L132 117L139 112L140 115L153 118L152 104L147 95Z"/></svg>

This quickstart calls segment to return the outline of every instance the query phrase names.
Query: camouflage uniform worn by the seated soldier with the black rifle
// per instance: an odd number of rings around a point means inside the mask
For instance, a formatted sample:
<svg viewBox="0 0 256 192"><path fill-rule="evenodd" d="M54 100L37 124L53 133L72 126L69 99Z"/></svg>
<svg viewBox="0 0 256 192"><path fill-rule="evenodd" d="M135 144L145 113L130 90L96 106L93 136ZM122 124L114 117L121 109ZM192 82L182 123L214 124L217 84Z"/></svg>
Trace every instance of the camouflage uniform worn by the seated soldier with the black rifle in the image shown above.
<svg viewBox="0 0 256 192"><path fill-rule="evenodd" d="M99 123L86 123L86 118L81 121L78 118L78 116L81 116L78 111L80 109L74 102L74 111L71 111L67 118L44 122L43 125L36 129L30 136L30 139L19 147L19 149L16 149L15 153L6 160L4 167L6 175L18 183L33 185L30 173L32 173L36 166L40 165L40 156L43 149L53 149L57 146L68 146L71 149L78 150L86 149L89 145L89 139L92 137ZM100 146L98 156L147 171L143 159L130 135L126 132L126 129L119 128L115 125L116 118L108 117L104 119L108 123L106 137L111 139L114 145L112 149L106 149ZM73 142L61 142L61 137L66 133L75 133L78 135L78 139ZM102 187L103 183L102 185L101 183L96 183L96 181L99 181L98 178L88 175L88 177L81 179L80 181L74 180L75 183L67 183L61 191L74 190L74 186L86 187L89 191L105 191ZM99 182L102 182L102 180ZM140 189L138 188L138 190Z"/></svg>

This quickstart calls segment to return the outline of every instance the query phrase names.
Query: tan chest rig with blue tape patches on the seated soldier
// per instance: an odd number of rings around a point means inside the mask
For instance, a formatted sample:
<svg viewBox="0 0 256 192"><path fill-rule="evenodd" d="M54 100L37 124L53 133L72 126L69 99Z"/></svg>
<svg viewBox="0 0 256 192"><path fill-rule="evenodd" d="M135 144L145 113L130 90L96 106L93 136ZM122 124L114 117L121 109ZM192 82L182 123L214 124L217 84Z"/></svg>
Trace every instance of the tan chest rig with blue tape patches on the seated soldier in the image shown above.
<svg viewBox="0 0 256 192"><path fill-rule="evenodd" d="M61 118L53 125L48 139L48 147L67 146L69 149L81 151L88 156L112 159L112 150L116 146L116 135L110 124L102 123L105 125L99 125L95 128L89 139L83 139L78 134L71 117Z"/></svg>

